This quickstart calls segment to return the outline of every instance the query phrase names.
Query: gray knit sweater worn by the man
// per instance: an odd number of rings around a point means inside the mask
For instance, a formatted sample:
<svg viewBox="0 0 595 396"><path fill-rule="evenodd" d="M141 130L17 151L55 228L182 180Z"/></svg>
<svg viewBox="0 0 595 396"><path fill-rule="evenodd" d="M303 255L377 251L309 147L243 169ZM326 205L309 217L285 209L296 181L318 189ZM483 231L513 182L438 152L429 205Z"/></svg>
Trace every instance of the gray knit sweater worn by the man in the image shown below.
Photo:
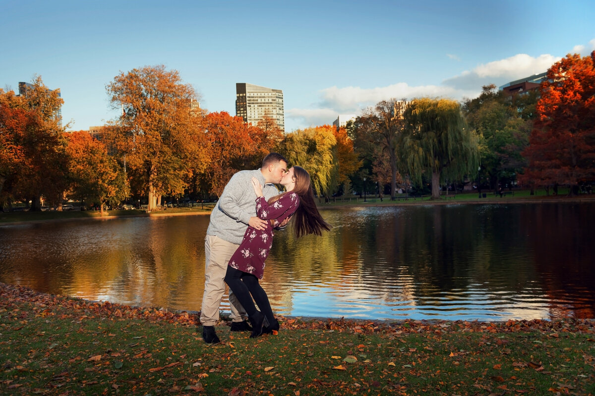
<svg viewBox="0 0 595 396"><path fill-rule="evenodd" d="M218 236L236 245L242 242L250 217L256 216L256 194L252 187L252 176L264 185L262 193L265 199L280 193L274 184L265 185L260 169L240 170L231 176L211 212L211 221L206 229L208 235Z"/></svg>

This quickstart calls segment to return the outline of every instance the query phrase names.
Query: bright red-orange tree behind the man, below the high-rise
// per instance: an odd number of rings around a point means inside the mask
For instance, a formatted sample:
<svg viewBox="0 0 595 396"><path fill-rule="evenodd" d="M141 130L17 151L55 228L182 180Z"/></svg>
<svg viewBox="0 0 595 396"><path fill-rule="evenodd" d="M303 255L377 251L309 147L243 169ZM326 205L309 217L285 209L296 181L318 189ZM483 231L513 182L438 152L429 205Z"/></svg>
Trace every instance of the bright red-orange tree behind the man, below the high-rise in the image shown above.
<svg viewBox="0 0 595 396"><path fill-rule="evenodd" d="M208 113L205 136L208 138L211 164L202 175L210 194L221 195L228 180L239 170L258 169L274 140L267 131L244 122L227 112Z"/></svg>

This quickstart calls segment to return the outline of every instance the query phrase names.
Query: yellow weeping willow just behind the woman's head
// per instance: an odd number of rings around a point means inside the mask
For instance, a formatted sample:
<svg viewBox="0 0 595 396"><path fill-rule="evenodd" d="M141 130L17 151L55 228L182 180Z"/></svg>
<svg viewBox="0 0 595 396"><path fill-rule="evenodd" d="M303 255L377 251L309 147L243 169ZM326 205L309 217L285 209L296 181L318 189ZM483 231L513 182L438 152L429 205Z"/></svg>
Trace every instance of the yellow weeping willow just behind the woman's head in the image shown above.
<svg viewBox="0 0 595 396"><path fill-rule="evenodd" d="M339 163L332 126L317 126L287 134L277 151L291 166L298 165L308 171L318 197L329 197L337 188Z"/></svg>

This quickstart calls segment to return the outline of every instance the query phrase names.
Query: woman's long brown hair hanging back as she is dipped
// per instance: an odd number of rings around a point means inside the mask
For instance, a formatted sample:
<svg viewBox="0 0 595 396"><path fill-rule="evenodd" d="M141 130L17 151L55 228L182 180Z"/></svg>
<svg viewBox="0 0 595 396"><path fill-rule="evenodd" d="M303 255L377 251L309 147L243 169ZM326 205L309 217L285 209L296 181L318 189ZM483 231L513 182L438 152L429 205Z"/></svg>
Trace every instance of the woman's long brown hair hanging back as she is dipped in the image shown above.
<svg viewBox="0 0 595 396"><path fill-rule="evenodd" d="M293 229L296 236L298 238L308 234L320 236L322 235L322 230L328 231L331 229L331 226L324 221L324 218L318 212L316 202L314 201L314 191L312 191L312 185L310 183L310 175L301 166L293 166L293 177L295 178L296 185L292 191L300 199L300 204L292 215ZM269 199L268 203L272 204L284 194L287 194L287 192Z"/></svg>

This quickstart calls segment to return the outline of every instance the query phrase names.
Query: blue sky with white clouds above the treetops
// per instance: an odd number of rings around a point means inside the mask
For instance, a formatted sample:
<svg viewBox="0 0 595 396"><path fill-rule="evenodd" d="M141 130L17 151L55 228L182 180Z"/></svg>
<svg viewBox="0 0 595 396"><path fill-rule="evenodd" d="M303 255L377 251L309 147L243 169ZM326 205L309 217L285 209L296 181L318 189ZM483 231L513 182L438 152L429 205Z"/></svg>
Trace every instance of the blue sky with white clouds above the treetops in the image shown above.
<svg viewBox="0 0 595 396"><path fill-rule="evenodd" d="M283 90L286 131L380 100L476 97L595 49L595 1L0 0L0 87L40 75L68 129L117 116L105 85L177 69L201 107L235 115L236 83Z"/></svg>

